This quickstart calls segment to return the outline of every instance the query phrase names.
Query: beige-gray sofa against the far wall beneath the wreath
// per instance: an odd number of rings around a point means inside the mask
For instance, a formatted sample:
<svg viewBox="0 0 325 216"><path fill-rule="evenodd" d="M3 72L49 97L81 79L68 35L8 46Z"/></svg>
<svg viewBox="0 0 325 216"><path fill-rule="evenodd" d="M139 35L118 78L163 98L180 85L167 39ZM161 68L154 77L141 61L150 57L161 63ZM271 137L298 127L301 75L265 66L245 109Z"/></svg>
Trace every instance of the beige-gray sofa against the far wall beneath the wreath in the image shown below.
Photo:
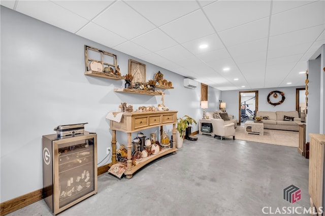
<svg viewBox="0 0 325 216"><path fill-rule="evenodd" d="M299 131L299 124L301 118L299 118L298 111L257 111L256 116L265 117L262 121L265 129L281 129L285 131ZM268 116L266 119L266 116ZM291 118L291 121L283 120L284 116Z"/></svg>

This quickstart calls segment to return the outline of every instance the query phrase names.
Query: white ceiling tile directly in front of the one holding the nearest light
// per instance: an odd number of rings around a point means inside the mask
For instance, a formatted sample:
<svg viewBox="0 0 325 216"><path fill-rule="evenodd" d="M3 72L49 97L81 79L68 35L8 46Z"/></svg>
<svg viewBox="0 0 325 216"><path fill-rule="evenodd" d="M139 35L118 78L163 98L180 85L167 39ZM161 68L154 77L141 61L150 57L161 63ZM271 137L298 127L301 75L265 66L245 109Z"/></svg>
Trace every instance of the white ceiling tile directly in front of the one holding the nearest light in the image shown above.
<svg viewBox="0 0 325 216"><path fill-rule="evenodd" d="M214 33L201 10L185 15L160 27L180 44Z"/></svg>

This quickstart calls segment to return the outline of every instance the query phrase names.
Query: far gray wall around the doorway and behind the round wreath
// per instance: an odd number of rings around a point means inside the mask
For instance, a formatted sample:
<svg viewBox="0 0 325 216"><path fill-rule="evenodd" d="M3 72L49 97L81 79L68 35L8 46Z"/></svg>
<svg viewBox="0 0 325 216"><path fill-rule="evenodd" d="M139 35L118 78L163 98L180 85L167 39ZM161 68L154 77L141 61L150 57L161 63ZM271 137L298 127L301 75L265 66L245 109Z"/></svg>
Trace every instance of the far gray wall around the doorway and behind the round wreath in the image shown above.
<svg viewBox="0 0 325 216"><path fill-rule="evenodd" d="M258 91L258 110L259 111L293 111L296 110L296 89L304 87L285 87L285 88L272 88L272 89L253 89L252 91ZM285 100L282 104L272 106L268 103L267 97L272 91L280 91L284 93ZM246 91L246 90L242 90ZM251 90L247 90L251 91ZM227 112L234 115L238 120L239 113L239 92L236 91L222 91L222 102L227 104ZM281 98L279 99L281 100ZM228 108L229 107L229 108Z"/></svg>

